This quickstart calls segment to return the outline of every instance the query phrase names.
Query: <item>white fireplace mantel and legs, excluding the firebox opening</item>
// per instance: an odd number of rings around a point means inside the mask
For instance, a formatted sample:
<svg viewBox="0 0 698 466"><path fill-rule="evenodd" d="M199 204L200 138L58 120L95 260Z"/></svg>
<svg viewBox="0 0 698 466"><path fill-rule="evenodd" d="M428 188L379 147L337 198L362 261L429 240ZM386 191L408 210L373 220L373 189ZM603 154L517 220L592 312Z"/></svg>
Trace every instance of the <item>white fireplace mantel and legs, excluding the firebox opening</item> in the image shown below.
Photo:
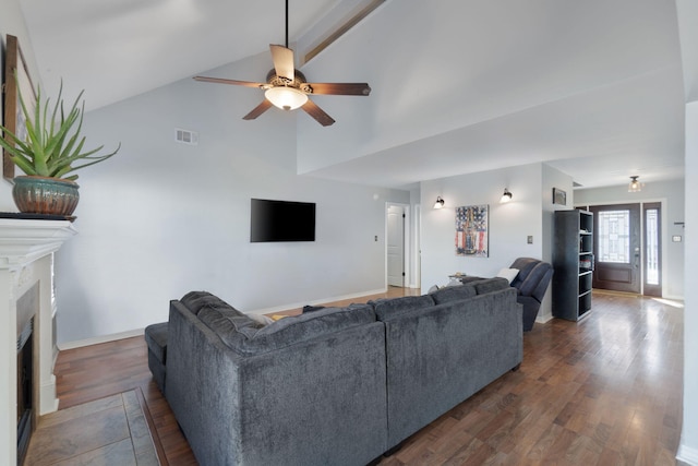
<svg viewBox="0 0 698 466"><path fill-rule="evenodd" d="M34 315L36 415L58 409L53 363L53 252L77 234L68 220L0 218L0 464L14 465L17 429L17 300L39 285Z"/></svg>

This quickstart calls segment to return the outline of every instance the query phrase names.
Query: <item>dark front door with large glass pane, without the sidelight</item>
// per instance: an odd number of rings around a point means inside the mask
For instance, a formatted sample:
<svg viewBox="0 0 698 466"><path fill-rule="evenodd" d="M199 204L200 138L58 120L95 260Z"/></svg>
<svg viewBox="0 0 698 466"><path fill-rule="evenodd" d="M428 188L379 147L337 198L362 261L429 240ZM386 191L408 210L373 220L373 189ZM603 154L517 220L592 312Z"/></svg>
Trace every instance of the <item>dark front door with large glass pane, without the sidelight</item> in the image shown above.
<svg viewBox="0 0 698 466"><path fill-rule="evenodd" d="M640 205L595 205L593 287L640 292Z"/></svg>

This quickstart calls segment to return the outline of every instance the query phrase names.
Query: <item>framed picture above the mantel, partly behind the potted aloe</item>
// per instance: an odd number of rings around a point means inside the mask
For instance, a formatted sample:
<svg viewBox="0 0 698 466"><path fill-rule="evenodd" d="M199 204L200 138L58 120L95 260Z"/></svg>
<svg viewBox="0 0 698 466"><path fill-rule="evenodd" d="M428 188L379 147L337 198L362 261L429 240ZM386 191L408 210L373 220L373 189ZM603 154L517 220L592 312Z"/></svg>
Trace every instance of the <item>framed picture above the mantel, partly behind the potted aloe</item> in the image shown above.
<svg viewBox="0 0 698 466"><path fill-rule="evenodd" d="M20 41L15 36L8 34L4 65L4 122L3 126L12 131L22 141L26 138L26 121L20 104L20 92L24 97L24 104L32 108L36 103L34 85L29 77L29 71L24 61ZM12 181L14 178L14 163L7 151L2 154L2 176Z"/></svg>

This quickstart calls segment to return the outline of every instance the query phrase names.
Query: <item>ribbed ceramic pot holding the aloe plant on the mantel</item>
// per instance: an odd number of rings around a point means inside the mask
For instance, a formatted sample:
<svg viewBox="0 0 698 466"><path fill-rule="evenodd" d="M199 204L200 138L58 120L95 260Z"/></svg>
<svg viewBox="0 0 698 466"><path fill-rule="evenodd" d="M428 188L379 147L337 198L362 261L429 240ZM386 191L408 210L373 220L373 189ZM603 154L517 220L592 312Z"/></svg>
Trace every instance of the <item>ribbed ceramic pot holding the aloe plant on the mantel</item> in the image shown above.
<svg viewBox="0 0 698 466"><path fill-rule="evenodd" d="M14 177L12 198L24 214L70 216L80 200L77 188L76 182L61 178Z"/></svg>

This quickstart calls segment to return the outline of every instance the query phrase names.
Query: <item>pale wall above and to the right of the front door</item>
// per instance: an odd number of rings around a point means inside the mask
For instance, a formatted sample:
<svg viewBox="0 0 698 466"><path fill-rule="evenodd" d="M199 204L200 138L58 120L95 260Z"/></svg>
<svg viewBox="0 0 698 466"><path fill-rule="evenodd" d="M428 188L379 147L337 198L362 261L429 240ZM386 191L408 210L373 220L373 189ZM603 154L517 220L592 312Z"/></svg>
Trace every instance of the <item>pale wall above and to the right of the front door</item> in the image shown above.
<svg viewBox="0 0 698 466"><path fill-rule="evenodd" d="M683 299L685 242L672 242L672 236L684 239L684 227L674 225L684 222L684 180L647 182L640 192L628 192L627 184L575 191L576 205L639 202L662 203L662 292L665 298Z"/></svg>

